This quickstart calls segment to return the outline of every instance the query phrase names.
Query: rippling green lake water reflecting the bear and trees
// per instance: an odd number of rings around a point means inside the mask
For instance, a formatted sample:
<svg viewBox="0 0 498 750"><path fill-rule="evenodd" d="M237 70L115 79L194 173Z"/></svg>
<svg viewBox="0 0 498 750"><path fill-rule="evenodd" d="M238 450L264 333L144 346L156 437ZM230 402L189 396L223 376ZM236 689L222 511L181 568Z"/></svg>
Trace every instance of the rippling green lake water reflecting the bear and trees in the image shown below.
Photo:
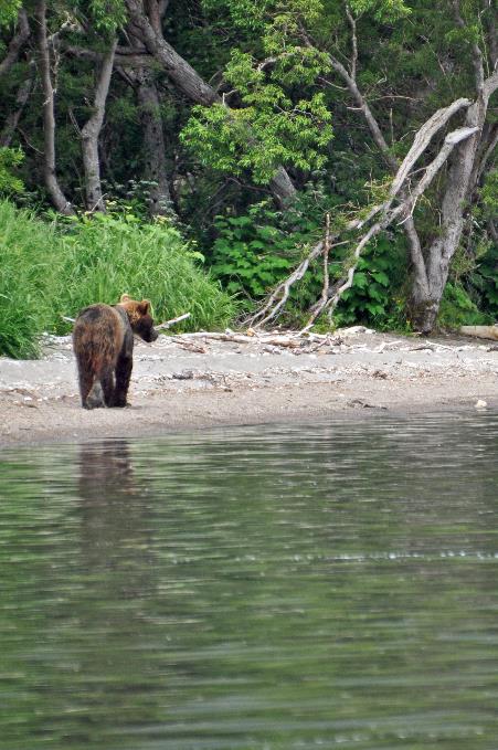
<svg viewBox="0 0 498 750"><path fill-rule="evenodd" d="M496 750L498 415L3 451L1 750Z"/></svg>

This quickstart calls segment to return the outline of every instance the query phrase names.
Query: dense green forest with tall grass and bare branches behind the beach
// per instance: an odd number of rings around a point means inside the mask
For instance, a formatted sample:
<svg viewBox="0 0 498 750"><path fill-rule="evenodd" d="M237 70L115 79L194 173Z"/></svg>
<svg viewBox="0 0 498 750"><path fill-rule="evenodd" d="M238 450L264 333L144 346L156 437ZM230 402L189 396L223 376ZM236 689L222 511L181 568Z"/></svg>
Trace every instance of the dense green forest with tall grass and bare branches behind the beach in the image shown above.
<svg viewBox="0 0 498 750"><path fill-rule="evenodd" d="M0 353L498 315L494 0L0 0Z"/></svg>

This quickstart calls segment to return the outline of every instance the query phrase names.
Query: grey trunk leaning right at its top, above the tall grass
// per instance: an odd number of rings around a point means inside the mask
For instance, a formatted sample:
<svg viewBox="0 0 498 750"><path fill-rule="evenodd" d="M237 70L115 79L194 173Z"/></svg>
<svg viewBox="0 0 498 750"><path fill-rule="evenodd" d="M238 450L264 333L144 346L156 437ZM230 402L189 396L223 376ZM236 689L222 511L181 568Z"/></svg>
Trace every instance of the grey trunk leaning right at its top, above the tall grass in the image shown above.
<svg viewBox="0 0 498 750"><path fill-rule="evenodd" d="M104 56L95 88L94 113L82 128L83 167L85 170L86 208L88 211L105 211L102 194L100 160L98 158L98 136L104 123L107 94L114 65L116 40Z"/></svg>

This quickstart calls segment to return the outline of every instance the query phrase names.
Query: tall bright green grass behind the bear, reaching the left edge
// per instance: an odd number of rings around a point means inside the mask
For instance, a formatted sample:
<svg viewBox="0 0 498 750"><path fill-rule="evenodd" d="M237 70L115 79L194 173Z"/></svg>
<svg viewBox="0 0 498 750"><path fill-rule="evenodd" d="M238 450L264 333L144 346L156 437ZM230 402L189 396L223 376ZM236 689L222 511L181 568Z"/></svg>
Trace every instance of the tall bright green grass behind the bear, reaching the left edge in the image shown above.
<svg viewBox="0 0 498 750"><path fill-rule="evenodd" d="M0 202L0 353L35 357L43 330L70 329L62 315L123 293L150 299L157 321L191 313L183 330L224 327L235 313L168 224L96 215L56 225Z"/></svg>

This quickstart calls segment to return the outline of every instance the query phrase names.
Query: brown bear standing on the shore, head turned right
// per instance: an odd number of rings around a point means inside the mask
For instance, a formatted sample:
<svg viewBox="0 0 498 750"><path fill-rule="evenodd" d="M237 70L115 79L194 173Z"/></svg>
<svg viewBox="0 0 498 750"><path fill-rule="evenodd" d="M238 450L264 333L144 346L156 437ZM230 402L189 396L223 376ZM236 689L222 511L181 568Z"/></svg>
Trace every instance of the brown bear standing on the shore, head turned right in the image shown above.
<svg viewBox="0 0 498 750"><path fill-rule="evenodd" d="M73 345L84 409L127 405L134 334L149 342L158 337L148 299L124 294L118 305L91 305L77 316Z"/></svg>

